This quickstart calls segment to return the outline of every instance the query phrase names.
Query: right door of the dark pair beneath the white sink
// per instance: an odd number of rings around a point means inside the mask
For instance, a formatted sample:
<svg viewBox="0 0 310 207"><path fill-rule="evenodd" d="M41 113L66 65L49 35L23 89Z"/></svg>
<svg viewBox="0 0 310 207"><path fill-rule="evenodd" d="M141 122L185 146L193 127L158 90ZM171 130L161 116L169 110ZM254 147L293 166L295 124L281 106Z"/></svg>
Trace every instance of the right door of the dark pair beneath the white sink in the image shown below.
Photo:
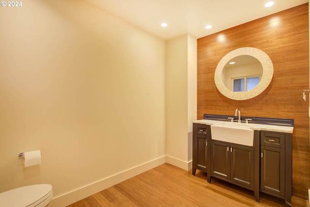
<svg viewBox="0 0 310 207"><path fill-rule="evenodd" d="M254 188L254 149L231 144L231 180Z"/></svg>

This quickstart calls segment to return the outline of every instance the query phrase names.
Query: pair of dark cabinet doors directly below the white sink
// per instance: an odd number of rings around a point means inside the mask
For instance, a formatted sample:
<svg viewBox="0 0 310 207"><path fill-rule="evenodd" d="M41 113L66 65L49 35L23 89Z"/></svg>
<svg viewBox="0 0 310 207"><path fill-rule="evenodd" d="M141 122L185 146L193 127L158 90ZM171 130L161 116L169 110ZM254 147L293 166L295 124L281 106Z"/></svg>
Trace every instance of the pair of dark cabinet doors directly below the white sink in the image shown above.
<svg viewBox="0 0 310 207"><path fill-rule="evenodd" d="M254 148L211 141L211 176L254 189Z"/></svg>

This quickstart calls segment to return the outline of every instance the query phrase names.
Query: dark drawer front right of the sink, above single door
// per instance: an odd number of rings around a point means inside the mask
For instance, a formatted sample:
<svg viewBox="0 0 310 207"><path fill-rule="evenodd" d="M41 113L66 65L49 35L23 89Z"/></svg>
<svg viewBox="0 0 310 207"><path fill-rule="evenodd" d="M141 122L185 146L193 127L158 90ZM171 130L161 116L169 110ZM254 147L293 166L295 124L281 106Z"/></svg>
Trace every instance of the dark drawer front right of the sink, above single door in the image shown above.
<svg viewBox="0 0 310 207"><path fill-rule="evenodd" d="M285 148L285 134L261 131L261 145Z"/></svg>

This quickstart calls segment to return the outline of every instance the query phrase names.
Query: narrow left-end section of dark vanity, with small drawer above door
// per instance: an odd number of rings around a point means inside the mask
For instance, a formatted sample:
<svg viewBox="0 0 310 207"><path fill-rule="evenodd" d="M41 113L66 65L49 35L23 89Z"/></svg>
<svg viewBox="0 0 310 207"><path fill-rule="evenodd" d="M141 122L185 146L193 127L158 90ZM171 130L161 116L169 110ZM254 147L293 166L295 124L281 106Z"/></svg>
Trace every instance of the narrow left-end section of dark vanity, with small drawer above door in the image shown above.
<svg viewBox="0 0 310 207"><path fill-rule="evenodd" d="M210 174L210 140L209 125L193 124L193 175L196 169Z"/></svg>

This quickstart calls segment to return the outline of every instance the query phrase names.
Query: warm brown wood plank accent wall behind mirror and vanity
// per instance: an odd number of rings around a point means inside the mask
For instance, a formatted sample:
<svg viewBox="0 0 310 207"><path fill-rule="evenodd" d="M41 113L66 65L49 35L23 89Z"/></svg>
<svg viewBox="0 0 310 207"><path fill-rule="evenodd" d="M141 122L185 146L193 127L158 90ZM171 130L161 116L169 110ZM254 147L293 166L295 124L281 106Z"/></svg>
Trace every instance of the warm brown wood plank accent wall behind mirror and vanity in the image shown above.
<svg viewBox="0 0 310 207"><path fill-rule="evenodd" d="M310 189L309 17L308 3L198 39L197 119L203 114L294 119L293 195L308 200ZM274 76L254 98L237 101L219 93L214 81L218 62L228 52L253 47L269 55Z"/></svg>

